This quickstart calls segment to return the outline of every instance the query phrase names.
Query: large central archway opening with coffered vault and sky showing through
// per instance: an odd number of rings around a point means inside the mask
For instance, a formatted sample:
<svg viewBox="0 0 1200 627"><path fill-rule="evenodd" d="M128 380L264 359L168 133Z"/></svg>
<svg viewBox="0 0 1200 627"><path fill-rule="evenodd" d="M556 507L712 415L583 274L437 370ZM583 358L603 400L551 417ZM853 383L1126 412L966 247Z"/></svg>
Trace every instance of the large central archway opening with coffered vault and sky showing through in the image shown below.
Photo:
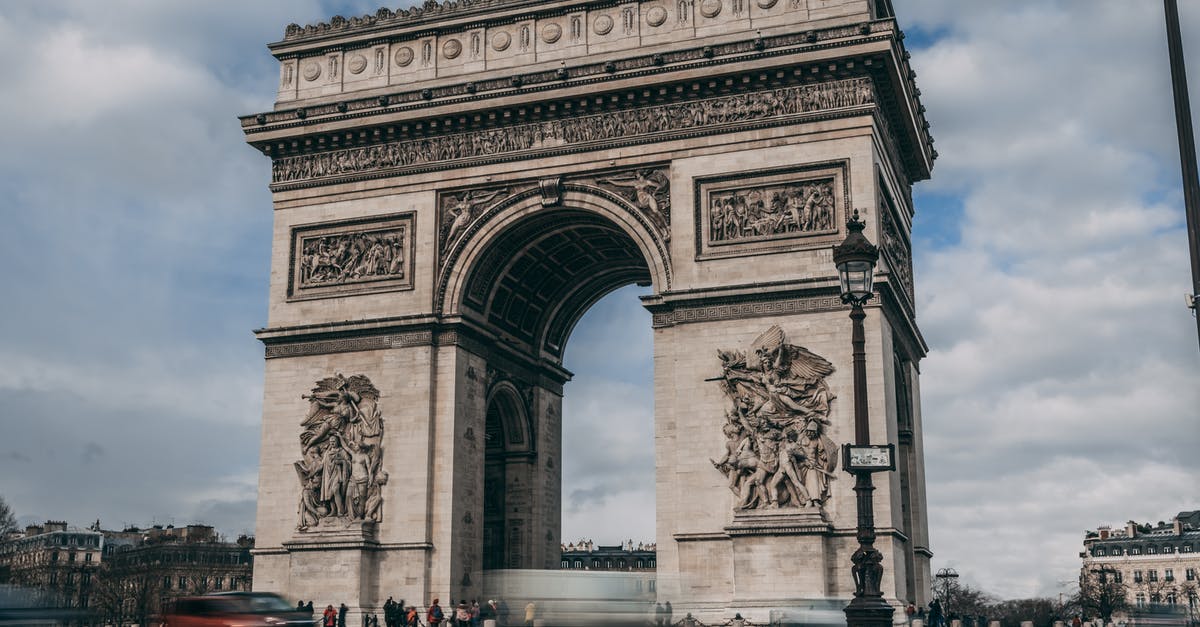
<svg viewBox="0 0 1200 627"><path fill-rule="evenodd" d="M635 235L608 216L554 208L491 235L470 268L461 311L504 342L504 354L492 359L518 354L563 372L580 369L550 404L535 399L545 388L523 388L520 375L488 375L482 569L558 568L559 544L582 537L598 544L619 545L634 536L635 544L653 542L652 334L637 299L649 293L652 271ZM568 339L593 310L568 353ZM629 333L631 327L640 333ZM636 429L626 429L630 419L640 422ZM638 464L620 468L631 458ZM612 472L618 468L624 473ZM636 512L613 498L628 496L613 488L634 479L642 488ZM641 525L637 531L578 525L605 519ZM545 548L540 559L533 545Z"/></svg>

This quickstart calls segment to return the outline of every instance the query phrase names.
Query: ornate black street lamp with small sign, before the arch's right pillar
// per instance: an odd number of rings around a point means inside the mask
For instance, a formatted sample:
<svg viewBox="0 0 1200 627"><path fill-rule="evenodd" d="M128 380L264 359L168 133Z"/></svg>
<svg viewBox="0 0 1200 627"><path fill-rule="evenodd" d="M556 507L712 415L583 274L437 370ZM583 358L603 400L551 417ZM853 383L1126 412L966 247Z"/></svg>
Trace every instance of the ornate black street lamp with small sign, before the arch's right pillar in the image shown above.
<svg viewBox="0 0 1200 627"><path fill-rule="evenodd" d="M863 305L875 294L875 262L880 251L871 244L863 229L866 225L858 219L858 210L846 222L846 239L833 249L833 262L841 280L841 300L851 306L853 321L854 362L854 443L842 447L842 470L854 476L854 497L858 504L858 550L851 556L854 575L854 599L846 605L846 625L850 627L890 627L894 610L883 601L880 590L883 579L883 555L875 548L875 508L871 473L895 470L894 448L871 446L871 431L866 416L866 334Z"/></svg>

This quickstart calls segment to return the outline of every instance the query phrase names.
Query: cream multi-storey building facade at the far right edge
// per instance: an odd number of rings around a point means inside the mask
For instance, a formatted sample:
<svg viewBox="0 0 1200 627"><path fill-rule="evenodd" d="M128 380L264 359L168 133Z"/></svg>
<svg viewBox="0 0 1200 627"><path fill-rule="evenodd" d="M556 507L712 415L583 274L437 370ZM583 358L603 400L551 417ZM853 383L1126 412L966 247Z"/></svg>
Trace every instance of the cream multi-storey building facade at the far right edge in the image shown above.
<svg viewBox="0 0 1200 627"><path fill-rule="evenodd" d="M1084 536L1080 579L1116 584L1130 609L1200 611L1200 510L1170 522L1102 526Z"/></svg>

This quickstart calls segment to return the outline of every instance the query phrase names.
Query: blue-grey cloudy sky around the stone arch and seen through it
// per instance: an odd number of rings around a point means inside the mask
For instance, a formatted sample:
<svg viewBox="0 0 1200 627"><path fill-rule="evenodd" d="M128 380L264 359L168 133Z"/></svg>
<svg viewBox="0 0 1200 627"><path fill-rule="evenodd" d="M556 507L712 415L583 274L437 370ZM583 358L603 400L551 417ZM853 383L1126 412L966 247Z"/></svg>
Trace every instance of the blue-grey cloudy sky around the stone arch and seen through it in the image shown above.
<svg viewBox="0 0 1200 627"><path fill-rule="evenodd" d="M934 567L1054 595L1084 530L1200 508L1160 4L895 2L941 153L914 227ZM271 107L287 23L376 8L0 4L0 496L22 522L253 530L271 215L235 117ZM568 538L653 536L636 294L569 346Z"/></svg>

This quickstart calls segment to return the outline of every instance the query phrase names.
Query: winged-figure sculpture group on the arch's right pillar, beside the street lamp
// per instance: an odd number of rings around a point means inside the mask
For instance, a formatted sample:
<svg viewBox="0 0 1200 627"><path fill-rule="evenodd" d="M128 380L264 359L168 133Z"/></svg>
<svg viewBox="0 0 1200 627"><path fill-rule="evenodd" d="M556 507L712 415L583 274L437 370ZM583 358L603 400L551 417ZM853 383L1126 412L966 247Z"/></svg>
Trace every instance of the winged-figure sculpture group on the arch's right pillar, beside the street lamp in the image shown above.
<svg viewBox="0 0 1200 627"><path fill-rule="evenodd" d="M838 447L829 440L827 359L787 344L773 326L749 351L720 350L725 454L710 460L728 479L736 509L820 510L829 500Z"/></svg>

